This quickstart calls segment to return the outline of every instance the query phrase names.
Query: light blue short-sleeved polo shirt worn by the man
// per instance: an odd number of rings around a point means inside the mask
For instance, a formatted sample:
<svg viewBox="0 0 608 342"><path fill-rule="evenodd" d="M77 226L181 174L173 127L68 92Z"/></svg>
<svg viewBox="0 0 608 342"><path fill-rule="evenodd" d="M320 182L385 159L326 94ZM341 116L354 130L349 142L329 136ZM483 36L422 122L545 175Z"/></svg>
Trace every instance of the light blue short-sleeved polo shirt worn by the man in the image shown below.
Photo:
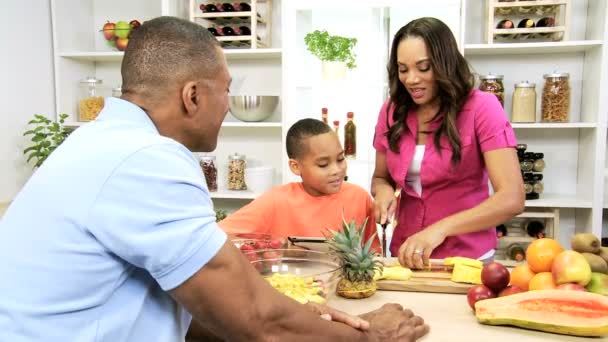
<svg viewBox="0 0 608 342"><path fill-rule="evenodd" d="M108 98L0 221L0 341L183 341L166 291L225 241L192 153Z"/></svg>

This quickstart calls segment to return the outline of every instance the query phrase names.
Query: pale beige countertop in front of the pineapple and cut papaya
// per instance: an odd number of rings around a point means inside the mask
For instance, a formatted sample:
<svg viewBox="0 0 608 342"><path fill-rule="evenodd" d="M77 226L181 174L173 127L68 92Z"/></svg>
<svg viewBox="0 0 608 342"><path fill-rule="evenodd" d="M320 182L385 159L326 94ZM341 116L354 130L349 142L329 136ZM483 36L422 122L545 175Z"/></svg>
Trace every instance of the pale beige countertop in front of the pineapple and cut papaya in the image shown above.
<svg viewBox="0 0 608 342"><path fill-rule="evenodd" d="M359 300L334 297L328 304L350 314L361 314L377 309L384 303L399 303L424 318L431 331L420 341L608 341L608 337L573 337L516 327L479 324L467 303L466 295L378 291L370 298Z"/></svg>

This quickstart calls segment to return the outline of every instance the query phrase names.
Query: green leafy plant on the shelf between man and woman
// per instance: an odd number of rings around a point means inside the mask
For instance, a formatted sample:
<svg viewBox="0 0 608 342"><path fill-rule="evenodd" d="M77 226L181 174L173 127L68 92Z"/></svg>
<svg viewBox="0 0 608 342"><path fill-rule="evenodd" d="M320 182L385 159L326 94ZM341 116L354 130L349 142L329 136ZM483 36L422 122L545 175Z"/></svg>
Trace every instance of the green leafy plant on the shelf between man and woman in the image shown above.
<svg viewBox="0 0 608 342"><path fill-rule="evenodd" d="M349 69L356 67L353 48L357 38L332 36L327 31L315 30L304 37L306 47L322 61L345 62Z"/></svg>

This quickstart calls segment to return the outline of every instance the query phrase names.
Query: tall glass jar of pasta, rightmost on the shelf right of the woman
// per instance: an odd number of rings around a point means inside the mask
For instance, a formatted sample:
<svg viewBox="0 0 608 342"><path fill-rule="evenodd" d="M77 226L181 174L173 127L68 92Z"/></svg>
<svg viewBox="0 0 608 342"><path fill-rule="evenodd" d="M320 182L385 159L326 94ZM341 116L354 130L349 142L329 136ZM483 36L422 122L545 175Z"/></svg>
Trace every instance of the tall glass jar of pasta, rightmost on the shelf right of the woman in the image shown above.
<svg viewBox="0 0 608 342"><path fill-rule="evenodd" d="M543 76L545 86L541 102L543 122L570 121L570 84L567 73L552 73Z"/></svg>

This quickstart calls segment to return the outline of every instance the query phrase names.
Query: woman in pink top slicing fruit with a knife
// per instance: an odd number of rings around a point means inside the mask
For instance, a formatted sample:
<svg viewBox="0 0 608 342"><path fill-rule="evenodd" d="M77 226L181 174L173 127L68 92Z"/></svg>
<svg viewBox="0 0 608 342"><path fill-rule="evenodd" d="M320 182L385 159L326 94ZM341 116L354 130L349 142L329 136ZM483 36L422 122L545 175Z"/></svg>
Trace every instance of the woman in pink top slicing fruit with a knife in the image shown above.
<svg viewBox="0 0 608 342"><path fill-rule="evenodd" d="M391 253L412 268L429 258L491 258L495 226L525 201L504 110L494 95L473 89L469 65L438 19L416 19L396 33L388 71L372 195L379 223L398 210Z"/></svg>

